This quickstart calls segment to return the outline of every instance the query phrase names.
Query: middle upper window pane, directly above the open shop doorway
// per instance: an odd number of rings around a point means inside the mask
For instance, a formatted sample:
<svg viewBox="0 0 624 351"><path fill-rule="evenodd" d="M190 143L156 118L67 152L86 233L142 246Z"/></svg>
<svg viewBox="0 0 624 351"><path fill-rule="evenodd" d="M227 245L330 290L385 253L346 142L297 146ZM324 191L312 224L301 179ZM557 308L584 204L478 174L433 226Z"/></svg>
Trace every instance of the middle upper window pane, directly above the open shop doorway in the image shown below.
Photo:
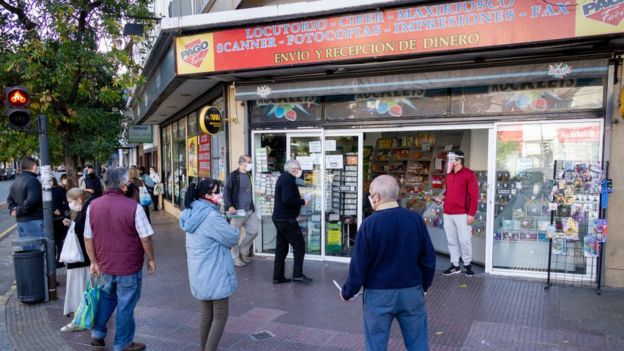
<svg viewBox="0 0 624 351"><path fill-rule="evenodd" d="M408 90L325 98L328 120L431 117L446 114L447 89Z"/></svg>

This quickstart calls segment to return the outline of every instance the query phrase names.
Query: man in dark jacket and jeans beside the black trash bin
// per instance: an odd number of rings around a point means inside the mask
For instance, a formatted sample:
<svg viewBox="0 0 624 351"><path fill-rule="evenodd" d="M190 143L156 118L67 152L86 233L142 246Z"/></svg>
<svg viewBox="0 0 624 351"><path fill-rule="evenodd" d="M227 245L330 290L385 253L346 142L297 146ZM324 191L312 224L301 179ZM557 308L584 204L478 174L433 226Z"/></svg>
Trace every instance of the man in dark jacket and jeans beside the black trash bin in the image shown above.
<svg viewBox="0 0 624 351"><path fill-rule="evenodd" d="M9 213L17 221L19 236L44 237L43 200L41 183L37 179L37 161L26 157L21 161L20 168L21 173L11 184L7 197Z"/></svg>

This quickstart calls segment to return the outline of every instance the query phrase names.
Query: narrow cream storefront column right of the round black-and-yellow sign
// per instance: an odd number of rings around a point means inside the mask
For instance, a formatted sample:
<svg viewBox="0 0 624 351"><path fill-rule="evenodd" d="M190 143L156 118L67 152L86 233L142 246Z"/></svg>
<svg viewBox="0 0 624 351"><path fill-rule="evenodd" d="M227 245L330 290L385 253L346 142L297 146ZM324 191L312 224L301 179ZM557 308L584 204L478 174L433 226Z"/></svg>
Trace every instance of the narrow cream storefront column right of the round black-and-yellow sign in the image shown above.
<svg viewBox="0 0 624 351"><path fill-rule="evenodd" d="M227 101L228 101L228 116L230 119L228 122L229 131L229 159L230 170L238 168L238 157L244 154L247 150L247 135L245 134L245 106L242 101L236 101L236 87L231 85L228 87ZM232 118L238 117L236 123L232 123Z"/></svg>

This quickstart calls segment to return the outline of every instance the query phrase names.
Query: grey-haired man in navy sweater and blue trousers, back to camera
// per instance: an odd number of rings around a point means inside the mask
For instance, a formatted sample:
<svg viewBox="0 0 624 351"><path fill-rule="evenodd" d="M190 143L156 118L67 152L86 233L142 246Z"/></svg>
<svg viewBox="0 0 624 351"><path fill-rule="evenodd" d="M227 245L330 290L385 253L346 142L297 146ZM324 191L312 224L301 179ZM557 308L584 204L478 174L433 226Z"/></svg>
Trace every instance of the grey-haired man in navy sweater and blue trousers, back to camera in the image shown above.
<svg viewBox="0 0 624 351"><path fill-rule="evenodd" d="M355 237L349 277L341 299L364 287L366 350L386 350L390 326L399 322L409 351L427 350L425 292L431 286L436 256L422 217L399 207L399 185L382 175L371 183L368 200L375 213Z"/></svg>

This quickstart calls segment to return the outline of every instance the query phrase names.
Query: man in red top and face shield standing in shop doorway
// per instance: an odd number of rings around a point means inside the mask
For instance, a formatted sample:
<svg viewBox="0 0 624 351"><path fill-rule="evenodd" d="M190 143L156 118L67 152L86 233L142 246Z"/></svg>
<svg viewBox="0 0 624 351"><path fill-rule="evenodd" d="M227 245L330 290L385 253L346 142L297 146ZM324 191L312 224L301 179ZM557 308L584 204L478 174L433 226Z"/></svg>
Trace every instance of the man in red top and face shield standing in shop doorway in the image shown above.
<svg viewBox="0 0 624 351"><path fill-rule="evenodd" d="M452 151L448 154L448 174L446 191L438 200L444 200L444 231L451 255L451 267L442 272L444 275L460 273L461 256L464 273L473 276L470 266L472 261L472 227L477 204L479 202L479 184L473 171L464 166L464 153Z"/></svg>

